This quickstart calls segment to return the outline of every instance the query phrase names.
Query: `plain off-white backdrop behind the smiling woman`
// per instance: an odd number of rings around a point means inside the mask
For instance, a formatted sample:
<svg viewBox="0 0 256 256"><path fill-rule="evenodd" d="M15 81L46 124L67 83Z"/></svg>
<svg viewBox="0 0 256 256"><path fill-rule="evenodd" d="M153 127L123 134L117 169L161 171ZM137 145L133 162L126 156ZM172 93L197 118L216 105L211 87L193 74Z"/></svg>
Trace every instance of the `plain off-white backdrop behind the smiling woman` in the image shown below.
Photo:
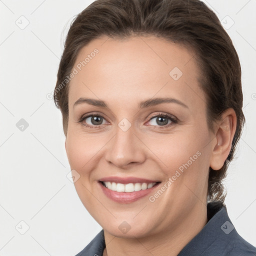
<svg viewBox="0 0 256 256"><path fill-rule="evenodd" d="M0 0L0 255L74 255L101 229L66 177L61 115L46 97L70 21L91 2ZM240 57L246 126L225 203L238 233L256 246L256 1L204 2L226 23ZM20 221L29 226L24 234Z"/></svg>

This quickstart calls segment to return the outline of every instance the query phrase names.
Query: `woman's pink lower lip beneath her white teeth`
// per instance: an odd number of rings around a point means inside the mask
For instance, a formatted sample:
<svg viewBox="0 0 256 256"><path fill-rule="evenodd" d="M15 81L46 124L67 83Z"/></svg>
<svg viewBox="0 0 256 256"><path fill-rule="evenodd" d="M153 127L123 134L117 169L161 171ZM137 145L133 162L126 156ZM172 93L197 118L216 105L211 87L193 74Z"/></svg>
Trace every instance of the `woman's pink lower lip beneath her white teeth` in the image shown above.
<svg viewBox="0 0 256 256"><path fill-rule="evenodd" d="M151 188L134 191L134 192L116 192L116 191L106 188L101 182L98 182L98 183L99 183L103 193L108 198L112 199L115 202L120 202L120 203L134 202L134 201L148 195L149 193L151 193L160 184L160 183L156 183Z"/></svg>

